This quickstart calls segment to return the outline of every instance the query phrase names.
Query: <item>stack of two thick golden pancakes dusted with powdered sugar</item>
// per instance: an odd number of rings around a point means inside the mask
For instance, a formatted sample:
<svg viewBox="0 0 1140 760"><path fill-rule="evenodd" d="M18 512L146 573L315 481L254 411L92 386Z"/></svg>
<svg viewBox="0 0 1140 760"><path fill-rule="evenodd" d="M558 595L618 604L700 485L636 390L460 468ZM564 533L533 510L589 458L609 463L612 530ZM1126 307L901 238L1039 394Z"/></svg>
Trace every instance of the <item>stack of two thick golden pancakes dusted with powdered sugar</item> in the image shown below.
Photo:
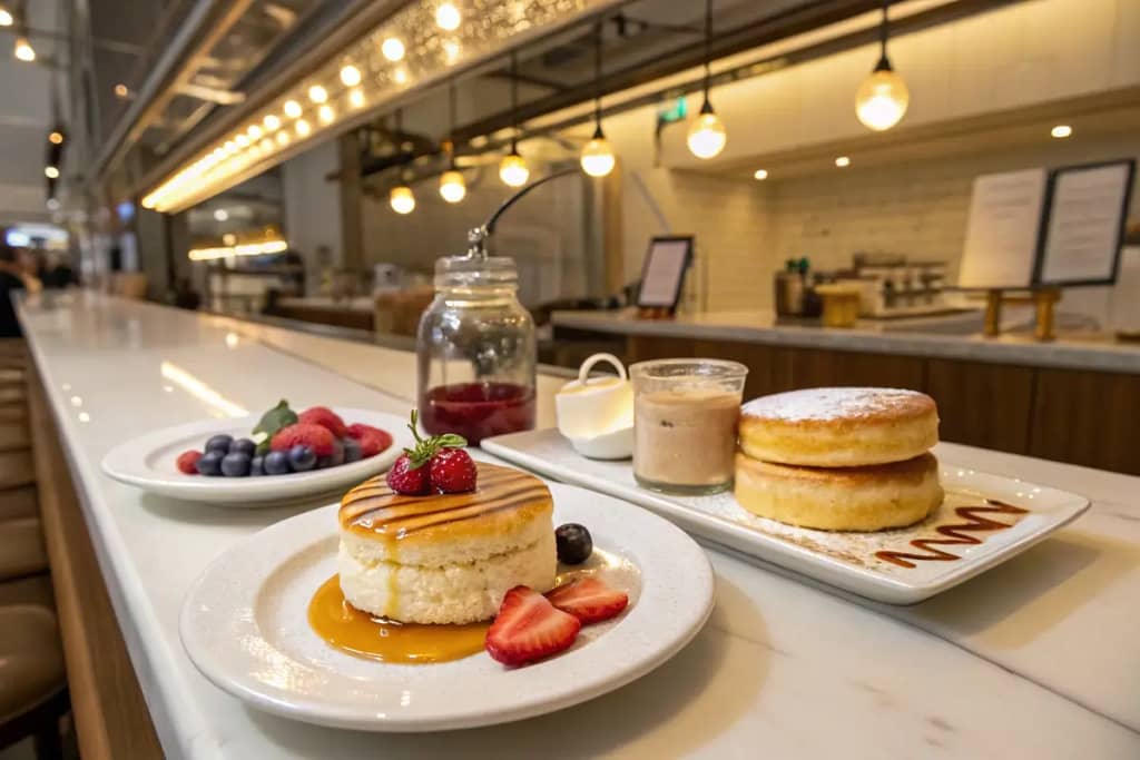
<svg viewBox="0 0 1140 760"><path fill-rule="evenodd" d="M942 504L934 399L914 391L823 387L744 404L736 500L805 528L876 531Z"/></svg>

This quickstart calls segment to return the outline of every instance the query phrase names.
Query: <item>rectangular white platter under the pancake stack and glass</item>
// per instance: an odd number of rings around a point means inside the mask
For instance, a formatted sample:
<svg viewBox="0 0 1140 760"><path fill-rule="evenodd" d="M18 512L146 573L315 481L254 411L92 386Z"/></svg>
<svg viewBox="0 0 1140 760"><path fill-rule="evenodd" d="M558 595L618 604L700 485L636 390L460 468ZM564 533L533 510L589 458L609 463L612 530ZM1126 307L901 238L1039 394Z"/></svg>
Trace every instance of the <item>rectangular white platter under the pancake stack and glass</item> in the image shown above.
<svg viewBox="0 0 1140 760"><path fill-rule="evenodd" d="M645 490L634 481L628 459L586 459L556 430L499 435L482 448L542 475L651 509L706 541L887 604L915 604L958 586L1089 508L1089 500L1075 493L943 461L946 500L927 520L878 533L831 532L758 517L732 493L683 497ZM882 553L926 558L883 558Z"/></svg>

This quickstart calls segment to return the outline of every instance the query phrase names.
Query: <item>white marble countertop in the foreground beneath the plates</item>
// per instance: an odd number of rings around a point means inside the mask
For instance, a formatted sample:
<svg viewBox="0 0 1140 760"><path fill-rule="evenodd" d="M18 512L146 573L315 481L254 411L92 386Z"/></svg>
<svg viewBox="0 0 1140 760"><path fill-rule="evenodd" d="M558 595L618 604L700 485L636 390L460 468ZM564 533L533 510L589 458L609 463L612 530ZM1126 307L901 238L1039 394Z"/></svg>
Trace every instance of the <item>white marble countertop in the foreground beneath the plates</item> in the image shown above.
<svg viewBox="0 0 1140 760"><path fill-rule="evenodd" d="M1140 479L958 446L940 456L1083 492L1093 507L1002 567L907 608L709 549L717 607L698 638L635 684L543 718L369 735L259 713L195 670L179 608L214 556L303 507L145 497L106 479L99 460L154 427L222 414L169 384L162 362L251 410L286 397L404 414L413 357L85 293L30 302L22 318L170 758L1140 757ZM559 382L544 379L543 395Z"/></svg>

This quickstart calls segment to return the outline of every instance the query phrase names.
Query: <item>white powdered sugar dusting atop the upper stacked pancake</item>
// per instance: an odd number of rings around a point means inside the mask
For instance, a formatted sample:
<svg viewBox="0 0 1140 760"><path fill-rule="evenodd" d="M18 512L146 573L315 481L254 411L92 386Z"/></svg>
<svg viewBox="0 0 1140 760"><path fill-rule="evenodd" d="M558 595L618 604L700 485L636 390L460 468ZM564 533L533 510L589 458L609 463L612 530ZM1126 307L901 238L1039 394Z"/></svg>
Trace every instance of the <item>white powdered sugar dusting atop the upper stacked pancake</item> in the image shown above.
<svg viewBox="0 0 1140 760"><path fill-rule="evenodd" d="M765 419L847 419L889 411L923 395L895 387L813 387L760 397L744 404L746 415Z"/></svg>

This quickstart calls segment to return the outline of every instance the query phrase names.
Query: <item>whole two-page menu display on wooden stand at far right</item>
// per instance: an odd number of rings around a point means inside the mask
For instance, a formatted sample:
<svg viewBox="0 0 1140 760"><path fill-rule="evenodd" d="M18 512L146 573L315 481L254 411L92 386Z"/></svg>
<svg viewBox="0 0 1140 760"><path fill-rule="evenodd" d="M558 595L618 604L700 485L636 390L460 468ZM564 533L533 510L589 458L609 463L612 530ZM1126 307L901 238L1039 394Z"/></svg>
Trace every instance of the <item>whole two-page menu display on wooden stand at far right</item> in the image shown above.
<svg viewBox="0 0 1140 760"><path fill-rule="evenodd" d="M1134 175L1124 160L978 177L959 286L1113 284Z"/></svg>

